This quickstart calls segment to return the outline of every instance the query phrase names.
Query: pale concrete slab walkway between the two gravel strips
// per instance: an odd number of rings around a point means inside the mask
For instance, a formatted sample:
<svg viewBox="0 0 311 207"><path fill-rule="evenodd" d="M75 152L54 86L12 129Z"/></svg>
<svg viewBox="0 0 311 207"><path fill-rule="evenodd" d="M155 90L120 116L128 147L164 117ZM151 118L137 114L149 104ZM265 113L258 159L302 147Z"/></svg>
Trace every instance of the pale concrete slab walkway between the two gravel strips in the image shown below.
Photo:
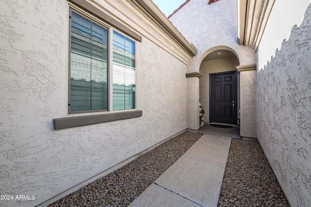
<svg viewBox="0 0 311 207"><path fill-rule="evenodd" d="M230 144L204 134L129 207L217 207Z"/></svg>

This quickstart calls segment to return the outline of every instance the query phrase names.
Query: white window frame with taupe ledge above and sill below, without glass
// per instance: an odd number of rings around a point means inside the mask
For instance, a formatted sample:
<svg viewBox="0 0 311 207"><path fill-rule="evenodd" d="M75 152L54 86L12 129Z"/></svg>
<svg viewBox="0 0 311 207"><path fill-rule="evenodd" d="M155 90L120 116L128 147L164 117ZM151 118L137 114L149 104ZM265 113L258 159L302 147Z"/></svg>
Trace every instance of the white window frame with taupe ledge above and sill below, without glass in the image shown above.
<svg viewBox="0 0 311 207"><path fill-rule="evenodd" d="M81 9L84 8L84 9ZM121 33L122 35L126 36L127 38L133 40L135 42L135 86L136 89L138 88L138 71L137 71L137 65L138 65L138 56L136 54L138 42L142 42L142 37L137 33L134 32L129 25L124 25L122 24L119 20L116 20L115 18L111 17L110 15L106 14L104 11L100 10L98 7L94 6L92 3L88 1L74 1L74 3L67 2L67 16L69 19L69 11L74 10L77 13L82 14L83 16L86 16L90 18L92 21L99 23L100 25L103 25L108 28L109 31L109 44L112 46L112 31L116 31ZM94 14L94 15L92 15ZM97 17L98 16L98 17ZM116 25L115 27L113 25ZM111 33L110 33L111 31ZM100 112L84 112L84 113L69 113L69 49L70 48L70 23L68 21L67 23L67 32L68 32L68 41L66 44L67 47L67 72L65 73L65 77L67 80L66 84L66 96L67 96L67 106L66 108L66 115L65 117L61 118L54 118L53 119L53 126L54 130L59 130L59 129L64 129L64 128L69 128L69 127L81 127L81 126L86 126L86 125L92 125L92 124L100 124L100 123L105 123L105 122L112 122L112 121L118 121L118 120L124 120L124 119L133 119L133 118L139 118L142 116L142 111L138 110L138 101L137 100L137 90L135 90L135 109L130 109L130 110L118 110L118 111L113 111L112 108L112 92L109 92L109 102L108 102L108 111L100 111ZM111 42L111 43L110 43ZM109 50L108 54L108 73L109 73L109 86L111 90L113 90L113 86L110 85L112 82L112 48ZM110 59L111 58L111 59ZM110 90L110 88L108 90Z"/></svg>

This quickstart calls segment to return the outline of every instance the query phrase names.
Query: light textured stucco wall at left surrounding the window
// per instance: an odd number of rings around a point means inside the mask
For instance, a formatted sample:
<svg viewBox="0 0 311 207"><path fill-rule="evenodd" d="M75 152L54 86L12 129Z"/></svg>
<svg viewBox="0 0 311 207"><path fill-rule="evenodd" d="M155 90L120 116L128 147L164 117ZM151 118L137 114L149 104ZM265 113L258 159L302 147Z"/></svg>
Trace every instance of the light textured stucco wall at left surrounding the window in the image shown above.
<svg viewBox="0 0 311 207"><path fill-rule="evenodd" d="M186 128L190 56L131 1L97 0L142 36L137 109L142 117L53 130L66 117L66 0L0 1L0 192L35 195L35 206Z"/></svg>

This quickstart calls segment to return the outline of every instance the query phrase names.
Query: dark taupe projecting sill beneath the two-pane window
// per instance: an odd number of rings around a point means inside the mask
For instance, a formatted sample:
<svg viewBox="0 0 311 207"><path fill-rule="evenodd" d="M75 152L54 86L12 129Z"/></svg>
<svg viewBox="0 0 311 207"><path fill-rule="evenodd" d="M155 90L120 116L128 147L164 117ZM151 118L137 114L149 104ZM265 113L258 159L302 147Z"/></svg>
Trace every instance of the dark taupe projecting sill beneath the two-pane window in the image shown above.
<svg viewBox="0 0 311 207"><path fill-rule="evenodd" d="M112 122L123 119L131 119L142 116L142 111L125 111L117 113L106 113L86 116L71 116L53 119L54 129L79 127L104 122Z"/></svg>

